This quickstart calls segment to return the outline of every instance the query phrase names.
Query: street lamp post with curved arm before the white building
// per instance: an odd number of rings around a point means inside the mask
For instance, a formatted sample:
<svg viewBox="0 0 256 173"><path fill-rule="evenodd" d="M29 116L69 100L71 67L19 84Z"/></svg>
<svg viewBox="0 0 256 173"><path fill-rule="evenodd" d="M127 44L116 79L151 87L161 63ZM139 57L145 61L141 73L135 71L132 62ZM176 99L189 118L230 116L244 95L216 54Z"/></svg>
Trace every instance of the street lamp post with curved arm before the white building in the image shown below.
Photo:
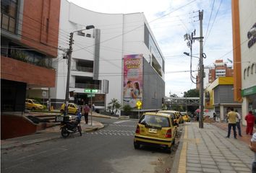
<svg viewBox="0 0 256 173"><path fill-rule="evenodd" d="M83 30L90 30L93 29L94 26L93 25L88 25L85 27L85 29ZM77 30L74 32L82 32L83 30ZM69 50L67 51L67 86L66 86L66 95L65 95L65 111L64 111L64 115L68 115L68 105L69 105L69 81L70 81L70 66L71 66L71 58L72 58L72 45L73 45L73 35L74 32L70 32L69 35Z"/></svg>

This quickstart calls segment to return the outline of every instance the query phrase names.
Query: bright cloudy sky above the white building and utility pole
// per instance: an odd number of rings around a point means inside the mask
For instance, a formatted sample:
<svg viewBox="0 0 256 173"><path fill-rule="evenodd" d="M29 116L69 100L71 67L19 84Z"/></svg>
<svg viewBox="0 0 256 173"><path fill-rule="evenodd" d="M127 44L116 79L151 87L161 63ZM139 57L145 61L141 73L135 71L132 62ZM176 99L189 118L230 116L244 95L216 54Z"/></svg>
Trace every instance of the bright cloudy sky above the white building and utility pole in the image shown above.
<svg viewBox="0 0 256 173"><path fill-rule="evenodd" d="M85 9L103 13L144 12L153 35L166 60L166 96L195 89L190 79L190 58L184 34L196 30L200 36L198 10L203 10L205 66L213 66L216 59L233 59L231 0L69 0ZM193 44L193 55L199 56L199 43ZM229 64L229 63L228 63ZM192 60L192 70L197 70L198 58ZM196 73L193 73L196 76Z"/></svg>

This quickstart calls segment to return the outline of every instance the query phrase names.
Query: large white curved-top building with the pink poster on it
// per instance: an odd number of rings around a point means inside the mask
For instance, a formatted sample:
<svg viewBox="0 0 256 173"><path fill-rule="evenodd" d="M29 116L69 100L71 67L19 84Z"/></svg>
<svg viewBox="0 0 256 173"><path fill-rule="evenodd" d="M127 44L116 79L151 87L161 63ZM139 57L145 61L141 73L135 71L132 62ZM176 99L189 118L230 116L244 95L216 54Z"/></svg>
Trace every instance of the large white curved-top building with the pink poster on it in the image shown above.
<svg viewBox="0 0 256 173"><path fill-rule="evenodd" d="M94 29L84 33L74 32L69 83L69 91L74 95L70 95L70 101L90 104L85 89L98 89L92 98L96 108L103 109L113 98L125 105L125 87L128 81L133 81L134 86L129 87L135 89L135 83L139 86L138 98L143 109L161 108L165 61L143 13L104 14L61 0L60 15L59 47L63 51L59 50L59 58L54 61L57 71L56 88L51 90L54 107L59 107L65 98L67 60L63 56L69 48L69 33L93 25Z"/></svg>

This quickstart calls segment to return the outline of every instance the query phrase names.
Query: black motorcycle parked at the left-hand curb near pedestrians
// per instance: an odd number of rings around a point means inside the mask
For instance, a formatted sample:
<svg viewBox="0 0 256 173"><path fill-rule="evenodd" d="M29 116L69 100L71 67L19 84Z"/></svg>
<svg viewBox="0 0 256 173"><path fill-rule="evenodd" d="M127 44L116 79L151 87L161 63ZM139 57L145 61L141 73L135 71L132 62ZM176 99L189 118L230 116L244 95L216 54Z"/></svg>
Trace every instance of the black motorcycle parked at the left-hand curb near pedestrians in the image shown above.
<svg viewBox="0 0 256 173"><path fill-rule="evenodd" d="M81 117L78 115L75 121L62 121L61 122L61 136L67 138L70 133L79 132L82 136L82 128L80 125Z"/></svg>

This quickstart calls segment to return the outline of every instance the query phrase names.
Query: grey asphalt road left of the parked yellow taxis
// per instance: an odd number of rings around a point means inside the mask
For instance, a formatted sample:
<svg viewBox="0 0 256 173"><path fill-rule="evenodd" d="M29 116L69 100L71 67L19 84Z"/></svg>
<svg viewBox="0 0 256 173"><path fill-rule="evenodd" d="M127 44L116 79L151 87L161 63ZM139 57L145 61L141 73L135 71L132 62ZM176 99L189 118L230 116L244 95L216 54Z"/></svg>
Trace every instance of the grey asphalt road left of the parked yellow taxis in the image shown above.
<svg viewBox="0 0 256 173"><path fill-rule="evenodd" d="M170 172L174 152L135 150L136 120L94 118L105 128L1 151L1 172Z"/></svg>

